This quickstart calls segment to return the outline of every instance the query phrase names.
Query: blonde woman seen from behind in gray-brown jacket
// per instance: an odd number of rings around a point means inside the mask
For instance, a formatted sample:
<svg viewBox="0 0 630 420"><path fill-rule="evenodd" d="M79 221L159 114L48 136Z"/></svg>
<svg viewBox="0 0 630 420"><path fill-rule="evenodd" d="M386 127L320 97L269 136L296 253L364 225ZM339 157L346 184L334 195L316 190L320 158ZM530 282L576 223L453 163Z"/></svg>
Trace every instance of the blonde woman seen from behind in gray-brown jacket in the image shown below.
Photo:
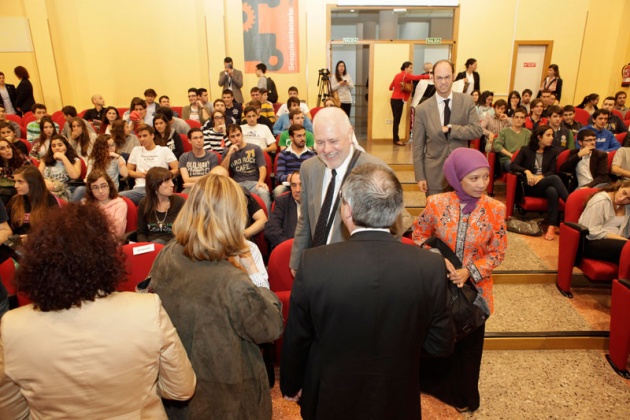
<svg viewBox="0 0 630 420"><path fill-rule="evenodd" d="M234 180L204 176L153 264L151 284L199 378L188 404L167 404L171 418L271 419L258 344L276 340L283 321L245 240L246 209Z"/></svg>

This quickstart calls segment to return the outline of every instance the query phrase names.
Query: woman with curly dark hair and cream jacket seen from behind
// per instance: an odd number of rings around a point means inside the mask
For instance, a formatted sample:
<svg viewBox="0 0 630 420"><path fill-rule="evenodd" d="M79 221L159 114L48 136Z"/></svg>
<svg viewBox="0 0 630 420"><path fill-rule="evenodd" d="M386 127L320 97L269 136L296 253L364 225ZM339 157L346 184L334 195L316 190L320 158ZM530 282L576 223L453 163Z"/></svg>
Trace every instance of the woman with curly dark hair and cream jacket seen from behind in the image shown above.
<svg viewBox="0 0 630 420"><path fill-rule="evenodd" d="M124 256L98 207L71 203L50 217L16 277L33 303L2 318L0 412L166 419L160 398L192 397L196 379L159 296L115 292Z"/></svg>

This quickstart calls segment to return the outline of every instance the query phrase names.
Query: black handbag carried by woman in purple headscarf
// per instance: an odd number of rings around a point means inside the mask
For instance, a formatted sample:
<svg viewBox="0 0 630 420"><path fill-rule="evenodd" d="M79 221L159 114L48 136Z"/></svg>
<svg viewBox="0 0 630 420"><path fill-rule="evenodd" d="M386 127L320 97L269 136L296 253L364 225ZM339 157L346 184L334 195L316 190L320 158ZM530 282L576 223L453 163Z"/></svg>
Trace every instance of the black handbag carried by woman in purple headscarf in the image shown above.
<svg viewBox="0 0 630 420"><path fill-rule="evenodd" d="M441 239L432 236L423 245L436 248L444 258L453 264L453 267L458 270L462 268L463 264L460 259ZM455 340L459 341L481 327L490 314L475 303L481 298L470 278L466 280L463 287L457 287L455 283L448 280L447 294L453 324L455 324Z"/></svg>

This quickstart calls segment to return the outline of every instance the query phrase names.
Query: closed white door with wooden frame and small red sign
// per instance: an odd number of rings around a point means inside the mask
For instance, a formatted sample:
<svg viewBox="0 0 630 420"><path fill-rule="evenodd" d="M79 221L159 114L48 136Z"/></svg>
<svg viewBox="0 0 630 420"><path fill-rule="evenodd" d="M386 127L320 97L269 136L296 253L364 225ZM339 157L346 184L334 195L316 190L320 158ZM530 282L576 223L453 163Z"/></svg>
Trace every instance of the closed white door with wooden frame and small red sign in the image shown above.
<svg viewBox="0 0 630 420"><path fill-rule="evenodd" d="M551 64L553 41L515 41L510 91L531 89L536 97Z"/></svg>

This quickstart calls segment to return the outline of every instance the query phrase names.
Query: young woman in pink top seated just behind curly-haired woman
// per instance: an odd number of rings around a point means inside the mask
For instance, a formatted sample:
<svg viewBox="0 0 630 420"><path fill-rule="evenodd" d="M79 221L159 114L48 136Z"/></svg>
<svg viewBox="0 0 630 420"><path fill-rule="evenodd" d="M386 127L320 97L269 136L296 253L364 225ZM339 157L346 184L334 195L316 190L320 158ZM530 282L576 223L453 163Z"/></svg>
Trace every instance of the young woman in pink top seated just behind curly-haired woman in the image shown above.
<svg viewBox="0 0 630 420"><path fill-rule="evenodd" d="M96 204L107 216L111 231L120 241L127 228L127 203L118 196L114 181L102 169L94 169L85 180L85 204Z"/></svg>

